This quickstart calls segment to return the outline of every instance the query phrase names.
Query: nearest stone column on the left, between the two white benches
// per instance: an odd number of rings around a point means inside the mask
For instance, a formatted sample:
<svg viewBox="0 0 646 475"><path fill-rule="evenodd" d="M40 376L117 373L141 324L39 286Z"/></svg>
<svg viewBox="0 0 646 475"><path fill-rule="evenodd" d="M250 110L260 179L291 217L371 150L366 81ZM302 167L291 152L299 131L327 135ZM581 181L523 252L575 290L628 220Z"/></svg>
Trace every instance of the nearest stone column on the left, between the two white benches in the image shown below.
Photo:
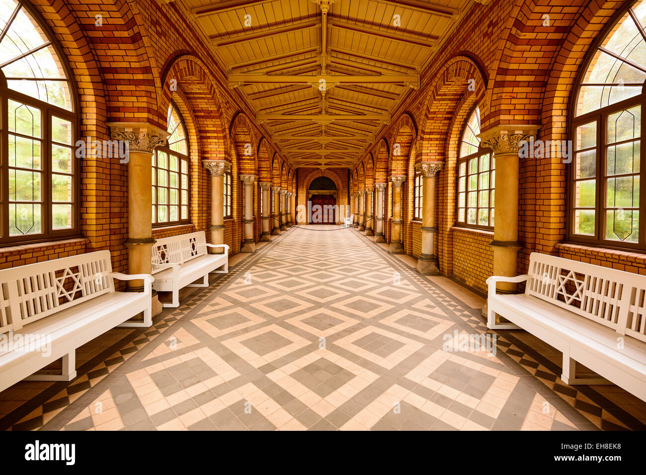
<svg viewBox="0 0 646 475"><path fill-rule="evenodd" d="M112 140L129 142L128 165L128 272L152 271L152 154L166 145L168 132L148 123L108 123ZM143 280L128 281L130 292L143 292ZM156 293L153 307L159 306Z"/></svg>

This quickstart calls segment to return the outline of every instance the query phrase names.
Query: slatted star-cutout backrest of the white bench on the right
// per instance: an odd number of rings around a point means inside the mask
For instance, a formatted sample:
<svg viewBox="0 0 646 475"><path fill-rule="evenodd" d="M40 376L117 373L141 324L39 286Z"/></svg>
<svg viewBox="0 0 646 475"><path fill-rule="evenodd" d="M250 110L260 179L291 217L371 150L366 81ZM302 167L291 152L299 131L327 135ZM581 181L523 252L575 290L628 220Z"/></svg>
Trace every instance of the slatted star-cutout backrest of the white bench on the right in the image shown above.
<svg viewBox="0 0 646 475"><path fill-rule="evenodd" d="M646 341L646 276L532 252L525 293Z"/></svg>

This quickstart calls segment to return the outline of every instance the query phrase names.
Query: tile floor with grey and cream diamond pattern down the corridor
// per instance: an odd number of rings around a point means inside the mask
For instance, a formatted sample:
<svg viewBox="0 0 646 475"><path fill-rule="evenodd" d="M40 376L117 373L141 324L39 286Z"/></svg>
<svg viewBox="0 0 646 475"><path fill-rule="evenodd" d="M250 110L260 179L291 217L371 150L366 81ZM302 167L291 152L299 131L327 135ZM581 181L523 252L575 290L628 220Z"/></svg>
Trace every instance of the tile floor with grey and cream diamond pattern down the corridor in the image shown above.
<svg viewBox="0 0 646 475"><path fill-rule="evenodd" d="M646 428L639 399L564 385L556 350L487 332L455 296L470 292L320 229L278 236L151 328L92 341L75 381L1 392L0 429Z"/></svg>

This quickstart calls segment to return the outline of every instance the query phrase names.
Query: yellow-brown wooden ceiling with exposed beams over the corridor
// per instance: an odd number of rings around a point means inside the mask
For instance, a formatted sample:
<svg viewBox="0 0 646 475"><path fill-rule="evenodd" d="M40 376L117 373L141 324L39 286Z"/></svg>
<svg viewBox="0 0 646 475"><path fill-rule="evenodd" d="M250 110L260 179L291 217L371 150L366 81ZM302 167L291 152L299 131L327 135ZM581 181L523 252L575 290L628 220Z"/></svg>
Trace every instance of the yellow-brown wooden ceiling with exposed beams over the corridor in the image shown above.
<svg viewBox="0 0 646 475"><path fill-rule="evenodd" d="M180 0L297 167L351 168L472 0Z"/></svg>

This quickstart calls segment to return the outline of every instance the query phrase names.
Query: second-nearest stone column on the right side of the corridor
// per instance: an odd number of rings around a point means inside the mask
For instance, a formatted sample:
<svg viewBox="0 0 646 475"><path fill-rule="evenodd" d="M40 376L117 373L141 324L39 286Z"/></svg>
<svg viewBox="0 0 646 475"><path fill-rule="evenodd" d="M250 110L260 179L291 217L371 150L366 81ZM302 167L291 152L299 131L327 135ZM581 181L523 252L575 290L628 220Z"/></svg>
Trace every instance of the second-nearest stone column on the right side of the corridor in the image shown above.
<svg viewBox="0 0 646 475"><path fill-rule="evenodd" d="M439 274L435 258L435 177L443 162L422 162L415 166L422 174L422 254L417 259L417 272Z"/></svg>

